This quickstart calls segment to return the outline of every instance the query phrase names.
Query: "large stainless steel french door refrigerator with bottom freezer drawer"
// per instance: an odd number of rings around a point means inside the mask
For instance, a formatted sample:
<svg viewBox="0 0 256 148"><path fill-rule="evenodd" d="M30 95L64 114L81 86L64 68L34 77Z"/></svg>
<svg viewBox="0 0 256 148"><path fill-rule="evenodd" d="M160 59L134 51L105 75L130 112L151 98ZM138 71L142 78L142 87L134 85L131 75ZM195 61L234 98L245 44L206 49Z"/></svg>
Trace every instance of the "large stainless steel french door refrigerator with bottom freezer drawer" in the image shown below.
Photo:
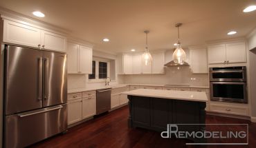
<svg viewBox="0 0 256 148"><path fill-rule="evenodd" d="M66 54L12 45L4 52L4 146L66 131Z"/></svg>

